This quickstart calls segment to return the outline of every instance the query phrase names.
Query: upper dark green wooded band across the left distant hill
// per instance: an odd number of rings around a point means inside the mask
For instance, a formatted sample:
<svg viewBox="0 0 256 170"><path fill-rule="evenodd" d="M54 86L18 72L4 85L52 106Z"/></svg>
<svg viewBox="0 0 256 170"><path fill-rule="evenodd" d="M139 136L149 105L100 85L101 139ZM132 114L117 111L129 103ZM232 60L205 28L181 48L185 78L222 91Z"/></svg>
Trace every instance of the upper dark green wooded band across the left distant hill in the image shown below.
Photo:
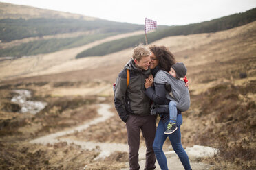
<svg viewBox="0 0 256 170"><path fill-rule="evenodd" d="M10 42L34 36L83 32L96 30L97 33L133 32L143 29L142 25L118 23L105 20L85 21L82 19L1 19L0 40Z"/></svg>

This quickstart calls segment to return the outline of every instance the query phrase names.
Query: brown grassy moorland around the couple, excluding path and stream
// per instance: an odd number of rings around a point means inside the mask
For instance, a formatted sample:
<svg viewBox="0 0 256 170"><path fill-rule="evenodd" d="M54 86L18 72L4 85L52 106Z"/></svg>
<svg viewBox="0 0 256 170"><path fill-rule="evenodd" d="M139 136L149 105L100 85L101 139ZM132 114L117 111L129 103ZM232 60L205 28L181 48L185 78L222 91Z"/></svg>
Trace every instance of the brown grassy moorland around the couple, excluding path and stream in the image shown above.
<svg viewBox="0 0 256 170"><path fill-rule="evenodd" d="M153 44L167 46L188 69L191 108L182 113L183 147L206 145L220 149L220 154L213 158L197 160L212 164L212 170L255 169L256 21L222 32L170 36ZM73 55L77 52L70 51ZM59 56L66 53L54 53L48 58L42 55L35 62L30 62L34 58L0 62L0 76L8 71L11 77L1 77L0 82L0 169L83 169L85 165L87 169L121 169L120 163L125 167L127 152L118 154L119 159L109 156L112 161L107 162L94 160L98 149L81 152L81 147L67 143L28 143L32 138L97 117L98 104L111 104L111 111L116 113L111 83L129 60L131 48L102 57L65 60L62 62L68 64L63 67L70 67L70 71L58 68L58 72L47 72L50 64L61 65L56 61L60 62ZM39 67L41 70L36 70ZM26 75L23 71L28 68L31 70ZM10 101L14 89L32 90L30 100L47 101L47 108L36 115L18 113L17 104ZM104 129L100 124L92 125L69 139L82 143L127 142L125 123L117 113L104 125ZM143 138L141 141L145 146ZM168 140L164 151L171 151ZM67 161L63 164L63 160Z"/></svg>

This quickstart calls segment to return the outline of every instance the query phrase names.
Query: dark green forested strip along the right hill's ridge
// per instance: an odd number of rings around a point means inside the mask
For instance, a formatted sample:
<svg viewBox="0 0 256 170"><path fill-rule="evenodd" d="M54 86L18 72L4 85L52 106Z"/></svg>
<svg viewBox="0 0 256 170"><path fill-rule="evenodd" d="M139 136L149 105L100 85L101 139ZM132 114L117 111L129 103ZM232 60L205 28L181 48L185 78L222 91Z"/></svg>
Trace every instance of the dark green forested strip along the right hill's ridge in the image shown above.
<svg viewBox="0 0 256 170"><path fill-rule="evenodd" d="M250 23L256 20L256 8L242 12L239 14L233 14L225 16L220 19L213 19L211 21L205 21L202 23L189 24L184 26L170 27L164 30L156 30L147 35L148 42L151 43L156 40L167 36L177 35L189 35L198 33L218 32L233 27L238 27L246 23ZM128 47L134 47L140 43L145 44L145 36L134 36L129 38L123 38L122 40L115 40L112 42L106 42L105 44L92 47L81 53L78 53L76 58L83 58L87 56L103 56L107 53L114 53Z"/></svg>

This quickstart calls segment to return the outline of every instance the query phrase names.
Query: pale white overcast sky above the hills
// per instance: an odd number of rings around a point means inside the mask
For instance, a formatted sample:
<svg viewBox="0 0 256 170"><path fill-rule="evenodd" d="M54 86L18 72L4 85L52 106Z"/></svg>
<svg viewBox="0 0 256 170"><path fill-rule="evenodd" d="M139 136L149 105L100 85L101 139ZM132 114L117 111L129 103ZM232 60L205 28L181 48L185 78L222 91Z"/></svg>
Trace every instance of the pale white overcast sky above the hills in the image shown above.
<svg viewBox="0 0 256 170"><path fill-rule="evenodd" d="M145 17L158 25L186 25L256 8L256 0L0 0L110 21L144 25Z"/></svg>

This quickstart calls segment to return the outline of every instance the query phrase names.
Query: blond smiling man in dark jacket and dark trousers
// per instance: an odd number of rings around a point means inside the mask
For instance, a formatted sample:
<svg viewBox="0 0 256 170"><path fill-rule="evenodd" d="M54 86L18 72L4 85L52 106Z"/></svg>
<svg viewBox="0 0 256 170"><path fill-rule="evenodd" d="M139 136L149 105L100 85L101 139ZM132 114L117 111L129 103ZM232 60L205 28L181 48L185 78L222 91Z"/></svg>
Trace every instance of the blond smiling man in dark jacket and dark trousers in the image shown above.
<svg viewBox="0 0 256 170"><path fill-rule="evenodd" d="M130 170L140 169L138 164L140 130L147 147L145 169L156 168L156 156L153 152L156 117L150 114L150 99L145 95L144 86L145 79L151 73L150 62L149 51L140 45L134 48L132 59L116 79L114 103L120 119L126 123ZM127 69L129 82L127 82Z"/></svg>

